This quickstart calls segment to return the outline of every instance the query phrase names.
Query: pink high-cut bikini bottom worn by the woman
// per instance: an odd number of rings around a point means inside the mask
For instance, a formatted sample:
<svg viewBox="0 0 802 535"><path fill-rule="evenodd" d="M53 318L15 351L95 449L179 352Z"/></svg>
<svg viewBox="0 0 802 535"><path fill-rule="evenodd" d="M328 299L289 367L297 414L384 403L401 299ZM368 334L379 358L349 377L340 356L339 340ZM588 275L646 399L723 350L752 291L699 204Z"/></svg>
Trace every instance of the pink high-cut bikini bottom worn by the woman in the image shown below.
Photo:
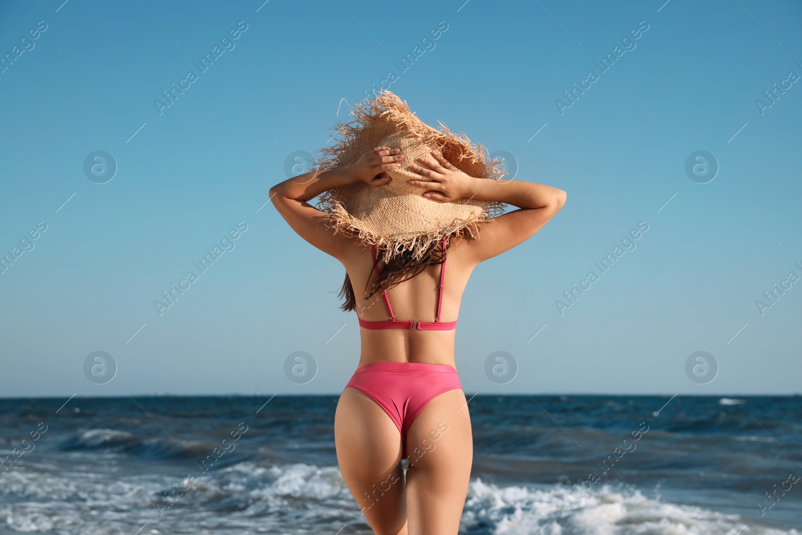
<svg viewBox="0 0 802 535"><path fill-rule="evenodd" d="M407 432L423 407L440 394L461 389L456 370L445 364L380 362L358 367L346 385L371 397L399 428Z"/></svg>

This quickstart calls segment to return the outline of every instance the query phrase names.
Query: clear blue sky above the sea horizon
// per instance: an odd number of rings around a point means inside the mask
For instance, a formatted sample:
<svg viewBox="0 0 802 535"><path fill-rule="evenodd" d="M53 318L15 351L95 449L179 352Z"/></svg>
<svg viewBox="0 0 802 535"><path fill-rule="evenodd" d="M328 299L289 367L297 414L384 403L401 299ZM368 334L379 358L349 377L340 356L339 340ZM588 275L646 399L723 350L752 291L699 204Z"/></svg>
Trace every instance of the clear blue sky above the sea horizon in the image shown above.
<svg viewBox="0 0 802 535"><path fill-rule="evenodd" d="M265 201L382 83L568 193L472 275L465 391L800 391L799 2L262 2L3 3L0 395L342 391L342 265ZM311 381L286 377L295 351ZM485 375L496 351L511 381Z"/></svg>

